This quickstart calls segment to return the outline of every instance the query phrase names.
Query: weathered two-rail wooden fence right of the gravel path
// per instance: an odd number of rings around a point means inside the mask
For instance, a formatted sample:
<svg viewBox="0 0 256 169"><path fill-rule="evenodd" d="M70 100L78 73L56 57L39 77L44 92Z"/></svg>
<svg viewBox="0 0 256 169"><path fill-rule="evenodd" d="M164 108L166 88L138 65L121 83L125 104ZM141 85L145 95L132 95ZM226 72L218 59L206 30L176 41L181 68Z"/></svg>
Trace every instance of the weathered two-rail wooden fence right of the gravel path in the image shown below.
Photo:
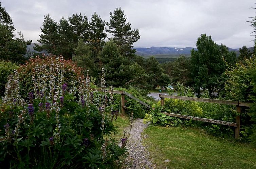
<svg viewBox="0 0 256 169"><path fill-rule="evenodd" d="M240 102L240 101L232 101L232 100L218 100L218 99L208 99L208 98L198 98L198 97L186 97L186 96L176 96L176 95L167 95L167 94L159 94L161 98L161 105L164 106L164 98L173 98L173 99L180 99L180 100L190 100L190 101L198 101L198 102L206 102L206 103L214 103L214 104L224 104L224 105L234 105L236 106L236 110L238 115L236 116L236 123L231 123L227 121L215 120L215 119L208 119L208 118L201 118L201 117L194 117L194 116L186 116L182 114L175 114L175 113L167 113L163 112L164 114L172 117L179 117L185 119L193 119L196 121L203 121L207 123L213 124L220 124L226 126L232 126L235 128L235 138L238 139L240 134L240 114L241 114L241 107L250 107L250 103Z"/></svg>

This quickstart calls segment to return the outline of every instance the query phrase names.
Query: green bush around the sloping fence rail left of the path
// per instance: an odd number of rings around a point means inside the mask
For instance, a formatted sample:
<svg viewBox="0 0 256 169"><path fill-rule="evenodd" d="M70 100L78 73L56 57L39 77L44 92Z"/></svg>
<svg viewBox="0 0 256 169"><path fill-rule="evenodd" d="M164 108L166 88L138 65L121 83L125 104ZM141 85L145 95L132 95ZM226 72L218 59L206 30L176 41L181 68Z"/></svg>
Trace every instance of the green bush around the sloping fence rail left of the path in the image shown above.
<svg viewBox="0 0 256 169"><path fill-rule="evenodd" d="M130 87L129 89L115 88L115 90L126 91L131 95L133 95L134 97L144 101L148 105L152 105L153 103L152 98L148 97L148 90L146 89ZM140 104L138 101L131 99L128 96L125 96L125 106L128 107L128 110L126 110L126 113L130 115L131 112L133 112L134 118L144 118L146 112L148 111L147 107ZM113 109L121 111L121 96L119 94L114 95Z"/></svg>

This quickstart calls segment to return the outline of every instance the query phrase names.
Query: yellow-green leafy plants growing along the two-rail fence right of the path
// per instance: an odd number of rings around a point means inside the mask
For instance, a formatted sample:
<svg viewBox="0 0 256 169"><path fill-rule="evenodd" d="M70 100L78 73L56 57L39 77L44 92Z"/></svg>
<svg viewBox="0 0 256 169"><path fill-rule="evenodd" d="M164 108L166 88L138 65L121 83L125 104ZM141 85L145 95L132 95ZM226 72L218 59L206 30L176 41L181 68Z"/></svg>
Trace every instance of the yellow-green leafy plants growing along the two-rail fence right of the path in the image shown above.
<svg viewBox="0 0 256 169"><path fill-rule="evenodd" d="M193 89L178 83L175 92L177 92L180 96L195 97L192 91ZM205 90L201 97L210 98L210 95L208 91ZM229 126L215 125L200 121L181 120L175 117L166 116L165 114L161 113L162 111L228 122L235 122L237 116L234 106L171 98L165 98L165 107L160 105L160 101L157 104L154 104L152 106L152 110L150 110L145 116L145 121L150 121L153 124L179 126L182 123L185 126L197 126L205 128L209 133L219 136L231 136L233 135L234 129Z"/></svg>

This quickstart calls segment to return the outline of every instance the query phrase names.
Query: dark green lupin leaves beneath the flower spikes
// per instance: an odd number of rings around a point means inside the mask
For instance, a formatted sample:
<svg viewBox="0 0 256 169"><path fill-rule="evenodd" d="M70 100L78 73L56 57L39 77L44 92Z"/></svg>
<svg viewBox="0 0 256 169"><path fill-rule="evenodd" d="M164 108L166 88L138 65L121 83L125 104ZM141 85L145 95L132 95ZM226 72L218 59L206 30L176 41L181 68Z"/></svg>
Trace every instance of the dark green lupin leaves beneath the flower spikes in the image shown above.
<svg viewBox="0 0 256 169"><path fill-rule="evenodd" d="M98 140L102 135L110 135L115 128L109 119L104 120L108 126L107 130L100 130L102 117L98 108L91 105L81 108L72 96L65 95L65 106L60 111L59 124L61 124L60 142L56 141L53 133L56 131L55 112L47 118L46 112L36 111L32 117L26 118L24 125L20 128L19 136L10 136L14 140L6 139L0 142L1 168L105 168L111 166L119 159L126 150L120 148L116 142L107 142L107 157L102 160L101 144ZM35 110L39 110L39 100L34 100ZM17 114L21 108L6 107L1 113L1 126L10 124L8 132L16 127ZM69 112L69 113L67 113ZM10 115L12 113L12 115ZM32 122L31 122L32 121ZM3 128L3 127L1 127ZM5 128L6 129L6 128ZM5 130L0 135L5 135ZM52 140L51 140L52 139ZM85 142L84 139L88 141ZM16 157L16 158L14 158Z"/></svg>

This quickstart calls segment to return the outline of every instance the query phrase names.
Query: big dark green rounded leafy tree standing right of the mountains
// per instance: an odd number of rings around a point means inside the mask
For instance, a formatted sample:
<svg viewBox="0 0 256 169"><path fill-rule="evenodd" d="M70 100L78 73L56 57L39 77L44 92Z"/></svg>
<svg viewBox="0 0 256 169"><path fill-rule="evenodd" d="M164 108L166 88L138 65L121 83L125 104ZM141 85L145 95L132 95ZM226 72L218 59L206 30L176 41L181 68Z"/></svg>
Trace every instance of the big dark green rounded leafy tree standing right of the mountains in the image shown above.
<svg viewBox="0 0 256 169"><path fill-rule="evenodd" d="M198 51L191 50L191 78L195 90L200 94L200 88L214 92L218 79L226 67L223 58L233 64L235 54L229 53L225 45L217 45L211 36L202 34L196 42Z"/></svg>

